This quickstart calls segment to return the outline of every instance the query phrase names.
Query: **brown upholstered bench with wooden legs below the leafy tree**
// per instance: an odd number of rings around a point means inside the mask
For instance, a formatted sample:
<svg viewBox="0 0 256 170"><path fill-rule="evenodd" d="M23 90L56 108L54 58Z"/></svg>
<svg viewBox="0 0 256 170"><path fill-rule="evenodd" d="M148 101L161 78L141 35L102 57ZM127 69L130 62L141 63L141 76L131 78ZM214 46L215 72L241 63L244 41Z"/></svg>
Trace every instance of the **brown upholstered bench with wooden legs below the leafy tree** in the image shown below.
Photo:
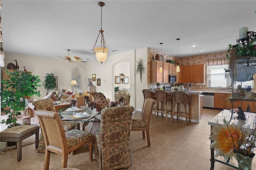
<svg viewBox="0 0 256 170"><path fill-rule="evenodd" d="M20 161L22 158L22 140L36 134L36 148L39 143L39 128L34 125L21 125L8 128L0 132L1 142L17 142L17 160Z"/></svg>

